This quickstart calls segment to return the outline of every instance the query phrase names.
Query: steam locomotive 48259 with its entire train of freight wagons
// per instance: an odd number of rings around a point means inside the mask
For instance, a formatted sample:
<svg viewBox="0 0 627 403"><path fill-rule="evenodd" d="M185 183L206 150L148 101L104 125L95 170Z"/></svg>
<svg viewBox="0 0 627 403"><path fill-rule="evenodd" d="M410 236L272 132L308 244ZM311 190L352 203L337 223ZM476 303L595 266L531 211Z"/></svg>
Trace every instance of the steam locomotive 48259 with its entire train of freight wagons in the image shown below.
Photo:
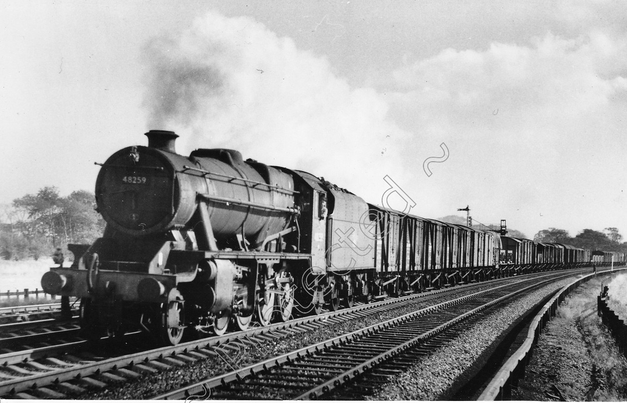
<svg viewBox="0 0 627 403"><path fill-rule="evenodd" d="M176 344L186 332L219 335L357 299L609 264L611 253L385 209L235 150L184 157L174 132L145 134L148 147L102 164L102 238L68 246L73 266L41 280L46 293L80 297L88 337L142 328Z"/></svg>

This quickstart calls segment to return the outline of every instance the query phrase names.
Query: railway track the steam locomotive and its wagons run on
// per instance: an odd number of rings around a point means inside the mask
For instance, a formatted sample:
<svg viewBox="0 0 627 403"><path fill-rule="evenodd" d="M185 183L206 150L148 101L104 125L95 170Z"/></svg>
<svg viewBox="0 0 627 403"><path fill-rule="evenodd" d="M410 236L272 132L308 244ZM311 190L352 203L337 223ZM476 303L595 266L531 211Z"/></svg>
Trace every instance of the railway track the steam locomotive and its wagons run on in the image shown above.
<svg viewBox="0 0 627 403"><path fill-rule="evenodd" d="M568 275L572 275L569 272ZM541 278L542 275L521 276ZM228 333L222 337L211 337L194 342L182 343L176 347L164 347L147 352L130 353L120 357L106 357L85 351L85 342L68 343L67 346L33 348L21 353L0 355L0 396L33 398L66 398L85 390L105 387L111 382L123 382L152 374L177 365L185 365L203 359L224 360L224 357L242 345L263 349L271 340L288 335L312 332L318 328L353 320L367 315L376 315L408 303L428 303L436 298L449 298L453 293L470 293L480 287L498 286L511 278L492 280L475 285L465 285L447 290L408 295L394 300L354 306L319 317L302 318L285 323L277 323L265 328L251 328L246 332ZM531 280L537 281L537 280ZM501 285L502 286L502 285ZM76 353L78 350L79 353ZM13 355L11 355L13 354ZM10 355L10 357L9 357Z"/></svg>

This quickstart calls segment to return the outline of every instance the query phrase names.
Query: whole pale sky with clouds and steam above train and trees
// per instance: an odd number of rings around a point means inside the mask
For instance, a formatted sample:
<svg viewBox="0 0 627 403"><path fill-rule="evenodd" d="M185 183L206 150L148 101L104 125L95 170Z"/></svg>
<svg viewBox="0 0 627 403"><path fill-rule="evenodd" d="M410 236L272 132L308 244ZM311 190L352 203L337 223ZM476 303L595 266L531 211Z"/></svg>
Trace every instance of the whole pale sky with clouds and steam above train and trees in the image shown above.
<svg viewBox="0 0 627 403"><path fill-rule="evenodd" d="M93 192L94 162L161 129L179 154L237 149L374 204L387 175L421 217L468 205L529 238L627 236L626 16L603 0L4 0L0 204Z"/></svg>

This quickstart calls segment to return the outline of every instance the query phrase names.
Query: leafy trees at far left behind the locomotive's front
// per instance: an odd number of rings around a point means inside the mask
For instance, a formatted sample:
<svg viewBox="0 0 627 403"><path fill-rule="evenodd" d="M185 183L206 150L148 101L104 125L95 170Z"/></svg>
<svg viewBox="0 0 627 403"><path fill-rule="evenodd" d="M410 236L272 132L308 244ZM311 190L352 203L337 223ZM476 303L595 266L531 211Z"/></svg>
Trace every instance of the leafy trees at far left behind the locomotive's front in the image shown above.
<svg viewBox="0 0 627 403"><path fill-rule="evenodd" d="M92 243L105 228L94 207L93 193L61 197L53 186L0 206L0 258L39 259L68 243Z"/></svg>

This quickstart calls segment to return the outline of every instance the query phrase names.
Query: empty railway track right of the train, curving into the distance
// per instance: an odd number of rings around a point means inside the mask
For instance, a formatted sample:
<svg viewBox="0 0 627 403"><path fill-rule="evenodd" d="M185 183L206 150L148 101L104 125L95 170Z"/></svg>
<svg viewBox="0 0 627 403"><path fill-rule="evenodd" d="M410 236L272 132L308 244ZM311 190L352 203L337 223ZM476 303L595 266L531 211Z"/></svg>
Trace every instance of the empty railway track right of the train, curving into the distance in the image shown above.
<svg viewBox="0 0 627 403"><path fill-rule="evenodd" d="M153 398L317 399L347 386L340 399L354 397L356 389L371 389L440 347L468 319L569 276L523 280L466 295Z"/></svg>

